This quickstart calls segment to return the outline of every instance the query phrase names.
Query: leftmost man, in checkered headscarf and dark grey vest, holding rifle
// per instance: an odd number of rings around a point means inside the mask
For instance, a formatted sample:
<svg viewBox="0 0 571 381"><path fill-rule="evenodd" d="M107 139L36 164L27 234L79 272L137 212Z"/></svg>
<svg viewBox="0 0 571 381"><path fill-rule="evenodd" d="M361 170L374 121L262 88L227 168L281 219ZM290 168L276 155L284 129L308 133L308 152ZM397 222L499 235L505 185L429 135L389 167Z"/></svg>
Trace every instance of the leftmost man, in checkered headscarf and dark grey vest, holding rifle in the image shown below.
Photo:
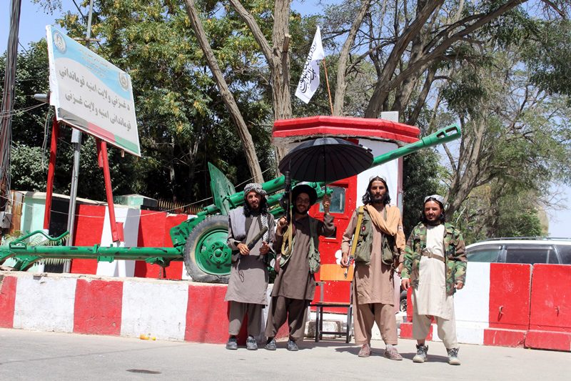
<svg viewBox="0 0 571 381"><path fill-rule="evenodd" d="M257 350L262 309L266 306L268 290L267 255L274 240L274 219L268 213L266 191L261 184L244 187L244 206L228 214L228 247L233 250L228 290L224 300L230 302L230 338L226 349L238 349L236 335L248 315L246 349Z"/></svg>

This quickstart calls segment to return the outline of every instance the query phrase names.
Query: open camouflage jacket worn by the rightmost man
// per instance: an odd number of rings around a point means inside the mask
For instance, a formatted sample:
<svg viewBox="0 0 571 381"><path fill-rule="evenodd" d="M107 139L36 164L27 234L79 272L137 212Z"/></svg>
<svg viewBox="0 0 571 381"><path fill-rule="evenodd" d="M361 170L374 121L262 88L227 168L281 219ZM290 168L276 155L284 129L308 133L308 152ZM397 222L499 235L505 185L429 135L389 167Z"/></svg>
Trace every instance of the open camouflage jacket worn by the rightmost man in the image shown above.
<svg viewBox="0 0 571 381"><path fill-rule="evenodd" d="M444 252L446 264L446 294L454 295L456 282L466 281L465 244L460 230L445 222ZM426 225L422 222L415 226L406 242L403 279L410 278L412 286L418 289L418 272L422 250L426 247Z"/></svg>

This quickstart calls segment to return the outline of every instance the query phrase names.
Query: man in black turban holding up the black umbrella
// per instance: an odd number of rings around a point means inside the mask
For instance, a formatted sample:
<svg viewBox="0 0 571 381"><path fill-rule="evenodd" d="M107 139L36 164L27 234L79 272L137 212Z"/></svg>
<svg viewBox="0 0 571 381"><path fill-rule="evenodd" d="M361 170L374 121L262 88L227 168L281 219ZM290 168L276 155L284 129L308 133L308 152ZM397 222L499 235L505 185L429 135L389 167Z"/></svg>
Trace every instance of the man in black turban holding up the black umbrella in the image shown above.
<svg viewBox="0 0 571 381"><path fill-rule="evenodd" d="M292 189L293 218L290 222L292 241L283 247L288 222L278 221L276 229L276 282L268 311L266 350L276 350L274 337L286 318L289 325L288 350L298 350L296 341L303 338L307 309L315 293L315 272L319 271L319 236L334 232L333 216L329 214L330 198L323 197L323 222L308 215L309 208L317 201L315 189L300 184Z"/></svg>

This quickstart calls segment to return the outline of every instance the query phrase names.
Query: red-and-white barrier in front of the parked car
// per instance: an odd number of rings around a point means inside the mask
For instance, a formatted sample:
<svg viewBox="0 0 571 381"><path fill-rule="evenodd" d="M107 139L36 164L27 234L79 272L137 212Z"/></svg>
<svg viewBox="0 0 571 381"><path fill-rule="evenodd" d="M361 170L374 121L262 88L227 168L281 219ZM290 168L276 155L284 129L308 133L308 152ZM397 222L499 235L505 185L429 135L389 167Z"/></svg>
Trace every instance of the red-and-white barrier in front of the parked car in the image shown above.
<svg viewBox="0 0 571 381"><path fill-rule="evenodd" d="M570 283L569 265L470 262L454 299L458 342L571 351L571 288L558 285ZM400 337L412 338L412 308L409 295Z"/></svg>

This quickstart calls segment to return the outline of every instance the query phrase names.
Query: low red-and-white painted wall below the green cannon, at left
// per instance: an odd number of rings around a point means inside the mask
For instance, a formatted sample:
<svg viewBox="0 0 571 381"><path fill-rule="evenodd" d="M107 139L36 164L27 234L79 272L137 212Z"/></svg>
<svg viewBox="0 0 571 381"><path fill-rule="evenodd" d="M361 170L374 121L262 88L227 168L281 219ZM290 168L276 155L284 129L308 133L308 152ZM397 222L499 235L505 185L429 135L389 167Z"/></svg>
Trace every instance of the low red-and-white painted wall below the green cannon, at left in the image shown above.
<svg viewBox="0 0 571 381"><path fill-rule="evenodd" d="M0 327L226 342L226 285L0 272Z"/></svg>

